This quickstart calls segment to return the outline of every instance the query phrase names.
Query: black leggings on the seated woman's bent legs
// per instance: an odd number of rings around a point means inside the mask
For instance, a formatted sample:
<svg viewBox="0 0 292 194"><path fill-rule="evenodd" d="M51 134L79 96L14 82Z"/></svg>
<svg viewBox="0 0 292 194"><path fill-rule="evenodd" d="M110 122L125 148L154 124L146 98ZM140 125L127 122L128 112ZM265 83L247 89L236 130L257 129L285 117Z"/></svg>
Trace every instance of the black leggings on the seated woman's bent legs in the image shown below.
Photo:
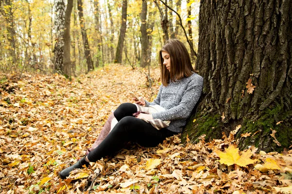
<svg viewBox="0 0 292 194"><path fill-rule="evenodd" d="M114 111L118 123L102 143L87 155L89 161L96 162L102 157L115 153L129 141L141 146L157 146L166 137L177 134L165 128L155 129L146 121L132 116L136 112L136 105L131 103L123 103Z"/></svg>

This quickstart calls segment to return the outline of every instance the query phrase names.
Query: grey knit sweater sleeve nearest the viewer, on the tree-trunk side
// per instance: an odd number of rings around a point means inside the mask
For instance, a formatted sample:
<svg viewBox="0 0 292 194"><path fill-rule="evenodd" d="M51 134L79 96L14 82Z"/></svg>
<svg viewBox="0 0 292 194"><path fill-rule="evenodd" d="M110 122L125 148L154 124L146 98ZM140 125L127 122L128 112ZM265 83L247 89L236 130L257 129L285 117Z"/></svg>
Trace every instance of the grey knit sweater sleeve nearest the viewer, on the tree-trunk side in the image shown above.
<svg viewBox="0 0 292 194"><path fill-rule="evenodd" d="M201 96L203 79L201 76L198 79L192 80L188 83L187 88L183 93L182 100L178 106L163 112L153 113L153 119L157 118L163 121L186 119Z"/></svg>

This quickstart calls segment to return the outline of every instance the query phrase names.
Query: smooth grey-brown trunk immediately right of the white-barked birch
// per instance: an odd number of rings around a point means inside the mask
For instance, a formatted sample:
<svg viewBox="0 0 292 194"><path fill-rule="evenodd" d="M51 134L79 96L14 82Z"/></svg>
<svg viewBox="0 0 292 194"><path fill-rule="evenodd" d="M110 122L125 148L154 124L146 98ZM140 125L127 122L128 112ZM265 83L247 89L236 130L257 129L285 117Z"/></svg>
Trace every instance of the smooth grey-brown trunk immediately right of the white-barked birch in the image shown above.
<svg viewBox="0 0 292 194"><path fill-rule="evenodd" d="M73 9L73 0L68 0L67 8L65 12L65 29L64 29L64 75L71 76L71 59L70 59L70 49L71 49L71 37L70 37L70 21L71 13Z"/></svg>

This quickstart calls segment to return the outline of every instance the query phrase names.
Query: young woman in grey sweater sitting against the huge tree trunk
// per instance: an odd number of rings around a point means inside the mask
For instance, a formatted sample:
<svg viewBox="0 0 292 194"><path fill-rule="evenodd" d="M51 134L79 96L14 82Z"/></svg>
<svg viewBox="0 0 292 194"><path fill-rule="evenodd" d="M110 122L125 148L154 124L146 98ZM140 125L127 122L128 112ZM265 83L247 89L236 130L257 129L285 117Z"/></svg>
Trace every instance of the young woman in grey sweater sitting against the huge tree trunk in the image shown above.
<svg viewBox="0 0 292 194"><path fill-rule="evenodd" d="M96 162L102 157L115 153L123 148L127 142L136 142L141 146L157 146L166 137L181 133L197 101L201 96L203 78L195 73L187 49L179 40L167 40L159 52L161 64L161 80L158 95L153 102L143 97L133 98L141 106L160 105L165 111L145 114L136 113L137 106L131 103L121 104L115 111L114 117L118 123L109 135L87 156L74 165L59 173L66 178L70 172L89 162ZM170 121L167 128L157 130L144 120L161 119Z"/></svg>

